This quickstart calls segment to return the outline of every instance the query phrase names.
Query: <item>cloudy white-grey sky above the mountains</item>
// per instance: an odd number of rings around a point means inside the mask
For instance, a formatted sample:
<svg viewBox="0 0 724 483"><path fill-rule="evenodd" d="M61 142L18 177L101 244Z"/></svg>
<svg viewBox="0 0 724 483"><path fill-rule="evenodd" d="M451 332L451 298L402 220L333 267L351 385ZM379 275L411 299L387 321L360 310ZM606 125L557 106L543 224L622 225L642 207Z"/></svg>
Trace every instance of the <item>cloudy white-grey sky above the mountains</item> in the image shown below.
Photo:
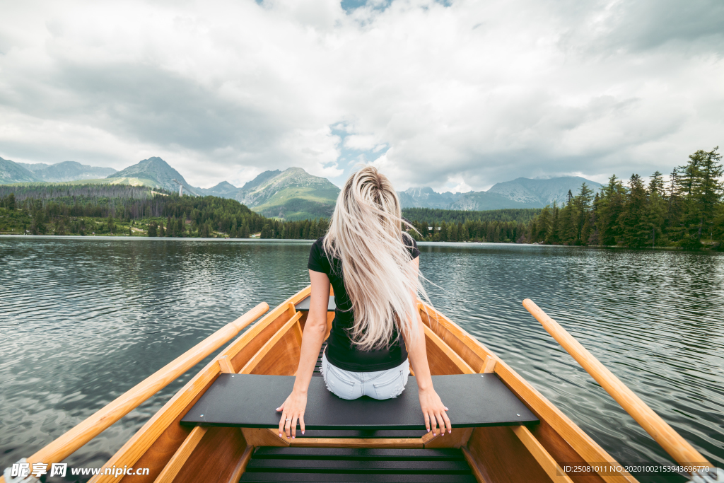
<svg viewBox="0 0 724 483"><path fill-rule="evenodd" d="M721 0L0 0L0 156L192 185L668 173L724 145Z"/></svg>

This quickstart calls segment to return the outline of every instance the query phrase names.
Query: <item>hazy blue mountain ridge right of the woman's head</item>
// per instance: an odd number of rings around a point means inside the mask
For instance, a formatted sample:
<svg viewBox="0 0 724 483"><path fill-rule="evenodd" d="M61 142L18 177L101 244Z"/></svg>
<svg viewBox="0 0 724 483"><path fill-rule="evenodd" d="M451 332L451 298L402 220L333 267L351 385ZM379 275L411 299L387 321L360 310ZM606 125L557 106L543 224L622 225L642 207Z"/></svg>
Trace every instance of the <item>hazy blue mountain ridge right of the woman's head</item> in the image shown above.
<svg viewBox="0 0 724 483"><path fill-rule="evenodd" d="M519 177L499 182L487 191L468 193L436 193L432 188L410 188L397 193L403 208L439 208L485 211L508 208L544 208L554 201L564 204L568 190L575 196L586 183L594 191L601 188L595 181L579 176L563 176L548 180Z"/></svg>

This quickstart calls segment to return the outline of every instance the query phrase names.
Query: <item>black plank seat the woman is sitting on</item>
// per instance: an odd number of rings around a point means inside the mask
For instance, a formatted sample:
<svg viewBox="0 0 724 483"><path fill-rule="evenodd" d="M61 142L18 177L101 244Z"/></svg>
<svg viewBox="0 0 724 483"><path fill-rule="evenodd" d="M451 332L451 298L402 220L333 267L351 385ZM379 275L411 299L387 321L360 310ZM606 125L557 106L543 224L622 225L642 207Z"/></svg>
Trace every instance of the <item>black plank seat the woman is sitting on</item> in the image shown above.
<svg viewBox="0 0 724 483"><path fill-rule="evenodd" d="M495 374L433 376L433 384L449 408L452 427L519 426L539 420ZM221 374L186 413L188 426L275 428L279 406L292 391L294 377ZM324 379L312 377L304 416L306 429L422 430L418 387L411 376L397 398L337 398Z"/></svg>

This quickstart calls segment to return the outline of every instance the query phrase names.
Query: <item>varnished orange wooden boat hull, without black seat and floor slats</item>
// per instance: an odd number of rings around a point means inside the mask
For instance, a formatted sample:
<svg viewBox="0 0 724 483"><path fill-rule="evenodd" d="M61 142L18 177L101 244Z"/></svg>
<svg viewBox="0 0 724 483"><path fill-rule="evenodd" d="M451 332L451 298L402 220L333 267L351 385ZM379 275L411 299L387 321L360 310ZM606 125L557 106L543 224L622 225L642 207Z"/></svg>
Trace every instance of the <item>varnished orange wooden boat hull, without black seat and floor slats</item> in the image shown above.
<svg viewBox="0 0 724 483"><path fill-rule="evenodd" d="M636 482L630 474L571 474L558 463L614 463L591 437L568 419L525 379L478 340L432 307L419 302L432 374L494 373L540 419L524 426L455 429L445 437L303 437L281 438L269 429L183 427L180 420L219 374L294 375L306 313L295 304L311 287L292 295L237 337L201 369L104 467L148 468L132 482L235 483L253 448L460 448L477 481L498 482ZM331 327L334 313L330 312ZM277 402L274 402L277 403ZM558 462L558 463L557 463ZM123 476L119 476L122 478ZM117 482L94 476L93 482ZM130 480L130 481L131 481Z"/></svg>

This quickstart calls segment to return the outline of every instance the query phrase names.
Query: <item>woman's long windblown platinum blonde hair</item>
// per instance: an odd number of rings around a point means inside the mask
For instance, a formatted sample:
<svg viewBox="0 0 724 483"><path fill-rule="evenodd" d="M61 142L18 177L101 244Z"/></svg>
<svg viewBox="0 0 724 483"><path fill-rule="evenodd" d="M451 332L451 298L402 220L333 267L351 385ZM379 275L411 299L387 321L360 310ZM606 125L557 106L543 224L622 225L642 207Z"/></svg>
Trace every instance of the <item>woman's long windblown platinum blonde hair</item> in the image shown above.
<svg viewBox="0 0 724 483"><path fill-rule="evenodd" d="M417 295L427 298L405 245L413 229L402 217L395 188L368 166L345 182L324 239L330 261L342 261L355 323L350 338L361 350L387 347L397 337L418 337Z"/></svg>

